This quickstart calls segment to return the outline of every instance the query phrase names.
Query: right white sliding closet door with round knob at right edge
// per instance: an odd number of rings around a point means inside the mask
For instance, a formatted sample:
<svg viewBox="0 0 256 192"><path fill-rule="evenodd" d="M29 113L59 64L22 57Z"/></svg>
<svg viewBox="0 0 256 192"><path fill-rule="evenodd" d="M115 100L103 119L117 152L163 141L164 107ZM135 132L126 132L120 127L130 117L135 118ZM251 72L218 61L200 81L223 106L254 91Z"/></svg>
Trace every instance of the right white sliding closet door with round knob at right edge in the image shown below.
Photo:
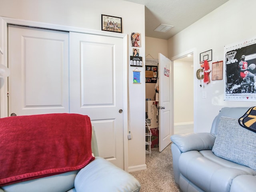
<svg viewBox="0 0 256 192"><path fill-rule="evenodd" d="M123 38L70 32L70 112L88 115L99 156L124 169Z"/></svg>

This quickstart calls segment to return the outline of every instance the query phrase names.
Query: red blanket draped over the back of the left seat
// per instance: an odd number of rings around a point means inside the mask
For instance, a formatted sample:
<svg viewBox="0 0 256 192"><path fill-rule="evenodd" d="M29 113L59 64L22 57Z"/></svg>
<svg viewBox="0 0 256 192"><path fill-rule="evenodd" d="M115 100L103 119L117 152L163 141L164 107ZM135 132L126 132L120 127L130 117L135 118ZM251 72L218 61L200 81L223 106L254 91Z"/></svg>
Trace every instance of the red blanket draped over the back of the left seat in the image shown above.
<svg viewBox="0 0 256 192"><path fill-rule="evenodd" d="M90 118L80 114L0 118L0 186L86 166L91 135Z"/></svg>

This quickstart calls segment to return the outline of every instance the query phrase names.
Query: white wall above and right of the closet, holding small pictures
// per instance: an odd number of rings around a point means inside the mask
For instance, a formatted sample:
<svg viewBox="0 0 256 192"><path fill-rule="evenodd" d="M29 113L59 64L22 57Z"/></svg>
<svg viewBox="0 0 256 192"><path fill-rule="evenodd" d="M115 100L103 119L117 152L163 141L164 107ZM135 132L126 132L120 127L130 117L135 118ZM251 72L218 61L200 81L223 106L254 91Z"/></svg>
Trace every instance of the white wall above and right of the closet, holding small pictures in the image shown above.
<svg viewBox="0 0 256 192"><path fill-rule="evenodd" d="M140 56L145 59L144 5L123 0L0 0L0 16L65 26L101 30L101 14L122 18L123 33L128 34L128 58L132 55L130 34L141 33ZM134 14L136 13L136 14ZM136 23L134 23L136 15ZM0 54L2 57L2 54ZM2 60L2 58L0 58ZM144 60L145 61L145 60ZM128 62L129 63L129 62ZM144 62L145 63L145 62ZM132 84L128 66L130 128L128 166L145 165L145 68L141 68L142 84Z"/></svg>

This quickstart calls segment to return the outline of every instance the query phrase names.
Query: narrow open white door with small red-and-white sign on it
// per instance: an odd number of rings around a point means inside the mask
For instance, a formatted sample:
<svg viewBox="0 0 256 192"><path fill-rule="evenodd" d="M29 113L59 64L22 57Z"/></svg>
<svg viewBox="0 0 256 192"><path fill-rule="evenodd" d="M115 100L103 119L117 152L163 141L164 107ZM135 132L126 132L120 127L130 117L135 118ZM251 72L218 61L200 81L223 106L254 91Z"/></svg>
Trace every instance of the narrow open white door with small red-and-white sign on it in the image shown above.
<svg viewBox="0 0 256 192"><path fill-rule="evenodd" d="M171 60L162 54L159 59L159 151L171 143L172 106L171 106Z"/></svg>

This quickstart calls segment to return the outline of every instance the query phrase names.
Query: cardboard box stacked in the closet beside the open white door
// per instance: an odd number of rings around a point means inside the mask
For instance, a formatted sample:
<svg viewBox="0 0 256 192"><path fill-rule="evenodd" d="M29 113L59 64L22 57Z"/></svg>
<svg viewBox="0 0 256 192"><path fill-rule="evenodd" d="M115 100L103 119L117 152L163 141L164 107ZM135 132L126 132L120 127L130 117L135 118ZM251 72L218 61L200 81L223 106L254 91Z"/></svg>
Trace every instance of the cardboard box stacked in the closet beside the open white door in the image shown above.
<svg viewBox="0 0 256 192"><path fill-rule="evenodd" d="M150 129L158 127L158 115L155 103L155 100L146 101L146 114L148 115L146 122Z"/></svg>

